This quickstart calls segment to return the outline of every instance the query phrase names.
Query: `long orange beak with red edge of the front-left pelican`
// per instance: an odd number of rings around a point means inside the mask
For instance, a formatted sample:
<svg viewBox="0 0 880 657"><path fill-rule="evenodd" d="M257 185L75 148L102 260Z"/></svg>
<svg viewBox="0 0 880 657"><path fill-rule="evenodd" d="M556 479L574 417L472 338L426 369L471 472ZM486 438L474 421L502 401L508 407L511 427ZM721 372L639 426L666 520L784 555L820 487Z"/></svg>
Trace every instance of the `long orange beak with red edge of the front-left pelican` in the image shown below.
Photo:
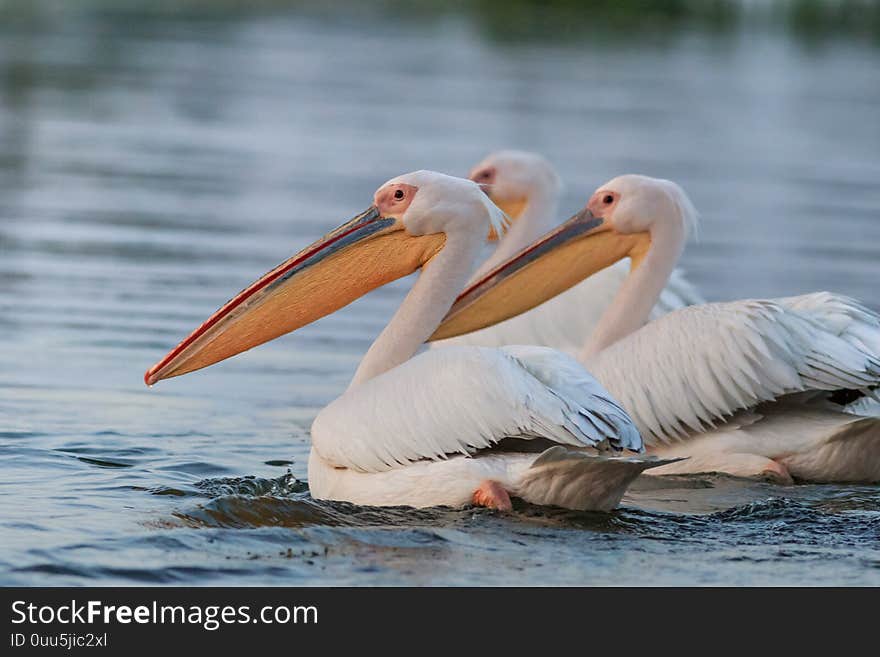
<svg viewBox="0 0 880 657"><path fill-rule="evenodd" d="M428 262L445 235L412 236L372 206L263 275L151 367L144 382L213 365L310 324Z"/></svg>

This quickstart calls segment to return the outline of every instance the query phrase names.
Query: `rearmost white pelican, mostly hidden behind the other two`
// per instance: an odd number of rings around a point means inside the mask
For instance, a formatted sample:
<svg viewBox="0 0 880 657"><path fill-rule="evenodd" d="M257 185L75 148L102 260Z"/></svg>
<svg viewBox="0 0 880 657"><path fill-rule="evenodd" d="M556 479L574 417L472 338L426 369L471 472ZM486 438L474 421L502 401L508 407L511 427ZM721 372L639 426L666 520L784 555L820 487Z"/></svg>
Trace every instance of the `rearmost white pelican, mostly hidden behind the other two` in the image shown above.
<svg viewBox="0 0 880 657"><path fill-rule="evenodd" d="M513 220L513 225L498 240L494 253L474 274L471 279L474 281L559 225L557 207L562 183L544 157L513 150L492 153L471 170L470 178ZM496 234L491 233L489 237L496 238ZM435 344L443 347L449 344L486 347L543 344L576 355L583 346L584 336L596 328L629 270L626 259L621 260L529 312ZM650 317L655 319L696 303L704 303L704 299L676 269Z"/></svg>

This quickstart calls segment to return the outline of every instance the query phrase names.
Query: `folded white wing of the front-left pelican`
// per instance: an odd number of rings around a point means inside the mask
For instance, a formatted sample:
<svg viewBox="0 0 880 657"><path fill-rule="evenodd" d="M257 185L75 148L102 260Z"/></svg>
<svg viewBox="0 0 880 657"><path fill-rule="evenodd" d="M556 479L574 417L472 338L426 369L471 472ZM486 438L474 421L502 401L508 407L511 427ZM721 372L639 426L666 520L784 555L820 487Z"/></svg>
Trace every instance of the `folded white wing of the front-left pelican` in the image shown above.
<svg viewBox="0 0 880 657"><path fill-rule="evenodd" d="M546 347L427 351L348 390L312 425L322 459L362 472L472 454L506 437L642 449L604 388Z"/></svg>

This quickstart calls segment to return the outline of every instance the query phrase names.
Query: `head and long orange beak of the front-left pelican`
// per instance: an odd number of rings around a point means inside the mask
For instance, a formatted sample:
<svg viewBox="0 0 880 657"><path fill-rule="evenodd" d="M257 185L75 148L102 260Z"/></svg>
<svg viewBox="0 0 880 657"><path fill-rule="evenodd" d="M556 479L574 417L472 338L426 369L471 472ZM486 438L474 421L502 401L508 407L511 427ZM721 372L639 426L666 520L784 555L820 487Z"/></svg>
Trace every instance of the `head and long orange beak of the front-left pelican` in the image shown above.
<svg viewBox="0 0 880 657"><path fill-rule="evenodd" d="M152 385L212 365L335 312L407 276L447 238L479 242L504 218L470 180L433 171L392 178L373 204L267 272L222 306L144 376Z"/></svg>

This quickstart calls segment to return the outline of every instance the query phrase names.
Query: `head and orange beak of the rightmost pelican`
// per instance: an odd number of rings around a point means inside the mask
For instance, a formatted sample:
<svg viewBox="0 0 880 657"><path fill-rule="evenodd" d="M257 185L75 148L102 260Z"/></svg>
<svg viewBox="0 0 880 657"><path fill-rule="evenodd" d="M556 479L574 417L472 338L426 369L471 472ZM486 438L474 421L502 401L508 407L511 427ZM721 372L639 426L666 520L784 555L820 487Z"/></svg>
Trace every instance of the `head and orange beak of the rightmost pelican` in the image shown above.
<svg viewBox="0 0 880 657"><path fill-rule="evenodd" d="M609 180L561 226L473 282L458 297L432 340L470 333L531 310L623 258L633 269L652 240L677 235L684 244L697 213L669 180L624 175Z"/></svg>

